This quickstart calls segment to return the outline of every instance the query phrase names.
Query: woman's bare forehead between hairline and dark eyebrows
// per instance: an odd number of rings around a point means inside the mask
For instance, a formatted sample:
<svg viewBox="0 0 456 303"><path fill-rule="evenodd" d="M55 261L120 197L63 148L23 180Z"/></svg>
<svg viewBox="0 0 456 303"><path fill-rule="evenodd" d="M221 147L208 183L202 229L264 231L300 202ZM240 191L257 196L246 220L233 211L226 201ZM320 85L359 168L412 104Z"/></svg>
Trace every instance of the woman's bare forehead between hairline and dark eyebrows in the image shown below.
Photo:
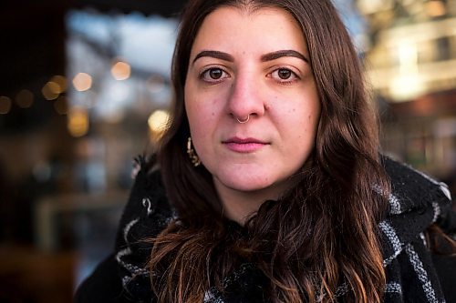
<svg viewBox="0 0 456 303"><path fill-rule="evenodd" d="M306 38L285 9L223 6L207 15L192 45L192 56L204 49L228 53L295 49L307 53Z"/></svg>

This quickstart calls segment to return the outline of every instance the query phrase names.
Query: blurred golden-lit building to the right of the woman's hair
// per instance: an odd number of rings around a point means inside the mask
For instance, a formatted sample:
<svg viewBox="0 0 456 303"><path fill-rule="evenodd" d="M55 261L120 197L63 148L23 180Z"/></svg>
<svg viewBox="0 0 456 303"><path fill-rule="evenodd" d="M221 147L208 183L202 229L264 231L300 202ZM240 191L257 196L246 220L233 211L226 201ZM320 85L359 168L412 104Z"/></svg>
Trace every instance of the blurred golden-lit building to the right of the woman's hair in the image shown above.
<svg viewBox="0 0 456 303"><path fill-rule="evenodd" d="M456 1L356 4L368 23L362 53L380 109L384 150L451 182L456 174Z"/></svg>

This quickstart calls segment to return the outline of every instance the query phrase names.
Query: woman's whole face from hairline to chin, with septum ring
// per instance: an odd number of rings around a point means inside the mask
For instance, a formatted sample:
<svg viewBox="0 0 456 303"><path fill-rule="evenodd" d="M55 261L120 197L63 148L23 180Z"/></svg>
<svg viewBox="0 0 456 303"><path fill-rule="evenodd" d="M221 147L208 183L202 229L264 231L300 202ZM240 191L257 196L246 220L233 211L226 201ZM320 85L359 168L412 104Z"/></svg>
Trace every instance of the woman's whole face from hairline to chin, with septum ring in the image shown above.
<svg viewBox="0 0 456 303"><path fill-rule="evenodd" d="M192 45L185 108L194 148L222 197L279 197L311 154L320 115L293 16L234 7L208 15Z"/></svg>

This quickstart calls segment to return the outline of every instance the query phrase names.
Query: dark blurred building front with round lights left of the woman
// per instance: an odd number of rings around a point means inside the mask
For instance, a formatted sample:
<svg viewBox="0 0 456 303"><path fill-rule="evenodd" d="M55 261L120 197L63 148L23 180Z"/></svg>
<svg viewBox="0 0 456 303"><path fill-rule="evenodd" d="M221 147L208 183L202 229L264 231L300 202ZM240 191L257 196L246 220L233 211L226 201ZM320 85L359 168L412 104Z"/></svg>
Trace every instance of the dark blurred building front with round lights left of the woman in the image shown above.
<svg viewBox="0 0 456 303"><path fill-rule="evenodd" d="M167 121L182 1L0 3L0 302L70 302Z"/></svg>

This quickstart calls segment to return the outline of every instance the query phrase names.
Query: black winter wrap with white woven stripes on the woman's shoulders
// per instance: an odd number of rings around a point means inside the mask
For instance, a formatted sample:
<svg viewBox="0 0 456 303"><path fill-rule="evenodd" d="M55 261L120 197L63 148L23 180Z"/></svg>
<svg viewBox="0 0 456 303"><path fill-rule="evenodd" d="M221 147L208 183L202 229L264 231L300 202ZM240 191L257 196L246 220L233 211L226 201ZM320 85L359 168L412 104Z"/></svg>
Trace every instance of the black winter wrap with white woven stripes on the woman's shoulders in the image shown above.
<svg viewBox="0 0 456 303"><path fill-rule="evenodd" d="M451 237L456 234L448 187L389 158L383 164L392 186L389 214L379 223L387 274L384 302L456 303L456 258L430 253L423 236L433 223ZM114 252L81 284L75 302L156 302L145 268L151 247L141 240L157 236L174 217L160 173L141 169ZM268 302L263 291L267 282L260 270L244 264L226 279L224 294L207 289L203 302ZM342 286L337 294L346 291Z"/></svg>

